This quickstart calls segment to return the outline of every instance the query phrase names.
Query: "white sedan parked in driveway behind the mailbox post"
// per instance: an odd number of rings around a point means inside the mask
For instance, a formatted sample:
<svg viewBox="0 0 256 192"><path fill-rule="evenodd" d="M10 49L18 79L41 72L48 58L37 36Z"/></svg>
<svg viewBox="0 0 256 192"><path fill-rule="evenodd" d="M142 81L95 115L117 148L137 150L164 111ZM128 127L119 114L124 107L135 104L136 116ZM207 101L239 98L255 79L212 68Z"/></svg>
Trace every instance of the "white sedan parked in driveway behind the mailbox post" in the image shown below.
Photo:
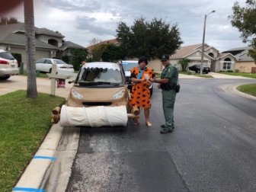
<svg viewBox="0 0 256 192"><path fill-rule="evenodd" d="M52 72L53 63L56 63L59 75L72 75L74 68L72 65L63 62L61 59L43 58L36 62L36 69L40 72Z"/></svg>

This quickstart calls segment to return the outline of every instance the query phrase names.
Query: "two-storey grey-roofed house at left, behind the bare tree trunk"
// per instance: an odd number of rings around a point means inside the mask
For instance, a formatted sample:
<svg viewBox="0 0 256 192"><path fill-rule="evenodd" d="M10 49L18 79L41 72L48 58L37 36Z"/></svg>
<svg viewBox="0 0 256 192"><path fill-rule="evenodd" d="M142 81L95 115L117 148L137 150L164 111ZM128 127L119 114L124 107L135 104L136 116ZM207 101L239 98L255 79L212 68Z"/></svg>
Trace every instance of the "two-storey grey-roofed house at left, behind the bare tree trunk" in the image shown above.
<svg viewBox="0 0 256 192"><path fill-rule="evenodd" d="M26 39L24 23L0 25L0 49L11 53L21 54L21 62L27 64ZM53 30L35 27L36 60L41 58L59 58L69 56L72 48L84 49L85 47L70 41L65 41L64 36Z"/></svg>

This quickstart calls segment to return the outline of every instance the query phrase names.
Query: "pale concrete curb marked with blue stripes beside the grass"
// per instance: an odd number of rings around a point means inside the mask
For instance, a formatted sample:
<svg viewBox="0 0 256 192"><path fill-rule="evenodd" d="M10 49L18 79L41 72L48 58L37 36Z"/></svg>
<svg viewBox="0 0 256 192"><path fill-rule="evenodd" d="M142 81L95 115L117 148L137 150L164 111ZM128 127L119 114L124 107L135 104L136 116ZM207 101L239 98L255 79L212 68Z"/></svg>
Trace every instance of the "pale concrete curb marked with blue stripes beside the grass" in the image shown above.
<svg viewBox="0 0 256 192"><path fill-rule="evenodd" d="M55 155L62 137L62 130L63 127L59 123L53 124L50 132L12 191L45 191L44 185L49 177L51 166L56 160Z"/></svg>

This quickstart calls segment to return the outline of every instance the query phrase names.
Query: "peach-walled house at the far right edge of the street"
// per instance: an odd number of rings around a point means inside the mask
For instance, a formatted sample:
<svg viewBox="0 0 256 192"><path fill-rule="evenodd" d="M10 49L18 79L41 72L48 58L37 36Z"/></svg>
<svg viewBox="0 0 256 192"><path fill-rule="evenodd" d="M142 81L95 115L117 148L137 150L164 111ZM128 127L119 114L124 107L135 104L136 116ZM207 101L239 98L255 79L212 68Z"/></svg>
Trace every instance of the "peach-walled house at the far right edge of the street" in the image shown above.
<svg viewBox="0 0 256 192"><path fill-rule="evenodd" d="M231 53L235 56L235 70L239 72L253 72L256 73L256 63L251 56L248 56L248 50L252 49L250 46L238 47L232 50L226 50L222 53Z"/></svg>

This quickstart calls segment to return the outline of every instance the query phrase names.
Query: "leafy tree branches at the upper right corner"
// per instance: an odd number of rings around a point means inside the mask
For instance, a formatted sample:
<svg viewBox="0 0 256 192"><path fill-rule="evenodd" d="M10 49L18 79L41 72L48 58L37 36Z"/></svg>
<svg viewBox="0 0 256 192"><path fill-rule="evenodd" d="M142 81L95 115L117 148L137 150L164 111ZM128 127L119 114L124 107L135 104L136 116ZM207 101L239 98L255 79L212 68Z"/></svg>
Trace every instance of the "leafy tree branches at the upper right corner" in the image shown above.
<svg viewBox="0 0 256 192"><path fill-rule="evenodd" d="M249 43L252 50L249 50L249 55L256 62L256 1L246 0L246 6L241 7L238 2L235 2L232 7L233 14L229 15L233 27L237 27L242 33L242 41Z"/></svg>

